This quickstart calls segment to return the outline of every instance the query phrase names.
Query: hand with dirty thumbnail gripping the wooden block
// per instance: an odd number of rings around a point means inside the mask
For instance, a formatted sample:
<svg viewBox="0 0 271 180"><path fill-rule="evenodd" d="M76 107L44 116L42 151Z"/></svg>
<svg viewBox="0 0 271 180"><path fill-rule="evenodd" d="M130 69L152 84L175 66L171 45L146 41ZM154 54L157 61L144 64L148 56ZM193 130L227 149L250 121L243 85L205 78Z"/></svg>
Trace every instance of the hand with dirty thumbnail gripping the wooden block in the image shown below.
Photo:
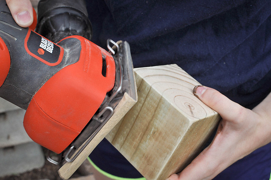
<svg viewBox="0 0 271 180"><path fill-rule="evenodd" d="M196 86L194 93L222 117L212 143L170 180L212 179L232 163L271 141L271 93L253 110L220 92ZM168 180L167 179L167 180Z"/></svg>

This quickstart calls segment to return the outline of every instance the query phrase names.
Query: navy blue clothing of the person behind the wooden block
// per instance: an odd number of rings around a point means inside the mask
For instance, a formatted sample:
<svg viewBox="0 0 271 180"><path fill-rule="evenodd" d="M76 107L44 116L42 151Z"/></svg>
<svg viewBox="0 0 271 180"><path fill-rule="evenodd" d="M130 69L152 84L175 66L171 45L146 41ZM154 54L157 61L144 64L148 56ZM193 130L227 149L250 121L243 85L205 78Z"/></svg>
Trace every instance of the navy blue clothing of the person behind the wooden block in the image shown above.
<svg viewBox="0 0 271 180"><path fill-rule="evenodd" d="M128 41L134 67L177 64L247 108L271 91L270 0L93 0L87 7L92 41L102 47L108 38ZM109 146L103 141L90 157L114 174L121 168L113 160L100 162L114 154L103 152ZM267 144L215 179L269 179L270 150ZM132 171L129 177L137 177Z"/></svg>

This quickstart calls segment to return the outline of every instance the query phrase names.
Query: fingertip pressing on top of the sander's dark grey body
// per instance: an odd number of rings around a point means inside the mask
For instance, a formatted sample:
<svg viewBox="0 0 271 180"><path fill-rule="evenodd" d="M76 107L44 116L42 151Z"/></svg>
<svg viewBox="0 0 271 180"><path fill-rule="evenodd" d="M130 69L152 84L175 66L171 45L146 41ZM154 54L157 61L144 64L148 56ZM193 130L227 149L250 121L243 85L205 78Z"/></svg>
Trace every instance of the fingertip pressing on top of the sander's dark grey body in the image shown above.
<svg viewBox="0 0 271 180"><path fill-rule="evenodd" d="M6 0L8 8L15 22L21 27L28 27L33 23L33 8L30 0Z"/></svg>

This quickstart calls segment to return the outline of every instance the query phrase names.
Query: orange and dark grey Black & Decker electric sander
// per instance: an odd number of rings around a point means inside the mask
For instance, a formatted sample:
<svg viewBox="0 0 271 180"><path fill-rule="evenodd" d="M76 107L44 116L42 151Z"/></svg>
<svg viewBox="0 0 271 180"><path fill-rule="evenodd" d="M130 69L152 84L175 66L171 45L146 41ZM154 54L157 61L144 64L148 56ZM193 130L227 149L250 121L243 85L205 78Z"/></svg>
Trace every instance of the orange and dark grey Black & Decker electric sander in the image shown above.
<svg viewBox="0 0 271 180"><path fill-rule="evenodd" d="M129 44L108 39L108 52L89 41L84 0L40 1L37 32L18 26L5 0L0 11L0 96L26 110L33 141L61 154L48 160L72 161L123 93L136 94Z"/></svg>

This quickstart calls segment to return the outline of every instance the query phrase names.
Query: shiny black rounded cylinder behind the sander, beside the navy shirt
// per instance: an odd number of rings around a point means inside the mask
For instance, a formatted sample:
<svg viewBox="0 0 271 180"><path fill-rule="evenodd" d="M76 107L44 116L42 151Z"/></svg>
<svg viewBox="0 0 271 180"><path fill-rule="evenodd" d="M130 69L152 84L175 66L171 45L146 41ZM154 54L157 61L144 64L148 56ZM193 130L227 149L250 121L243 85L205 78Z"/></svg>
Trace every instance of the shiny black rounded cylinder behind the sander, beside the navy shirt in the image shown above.
<svg viewBox="0 0 271 180"><path fill-rule="evenodd" d="M72 35L91 39L92 26L84 0L41 0L36 31L53 42Z"/></svg>

